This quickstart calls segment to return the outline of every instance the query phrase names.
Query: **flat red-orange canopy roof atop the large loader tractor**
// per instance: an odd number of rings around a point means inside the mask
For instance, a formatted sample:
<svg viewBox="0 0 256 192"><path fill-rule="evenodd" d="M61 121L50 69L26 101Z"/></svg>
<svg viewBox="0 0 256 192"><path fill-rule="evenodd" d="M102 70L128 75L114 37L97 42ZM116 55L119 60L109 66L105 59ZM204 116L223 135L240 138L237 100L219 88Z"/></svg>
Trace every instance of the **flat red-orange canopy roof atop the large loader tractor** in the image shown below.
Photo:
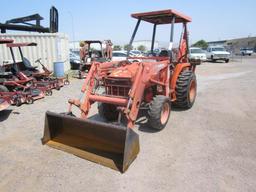
<svg viewBox="0 0 256 192"><path fill-rule="evenodd" d="M176 18L175 23L187 23L192 21L190 17L172 9L145 13L134 13L131 16L133 18L141 19L153 24L169 24L172 22L173 16Z"/></svg>

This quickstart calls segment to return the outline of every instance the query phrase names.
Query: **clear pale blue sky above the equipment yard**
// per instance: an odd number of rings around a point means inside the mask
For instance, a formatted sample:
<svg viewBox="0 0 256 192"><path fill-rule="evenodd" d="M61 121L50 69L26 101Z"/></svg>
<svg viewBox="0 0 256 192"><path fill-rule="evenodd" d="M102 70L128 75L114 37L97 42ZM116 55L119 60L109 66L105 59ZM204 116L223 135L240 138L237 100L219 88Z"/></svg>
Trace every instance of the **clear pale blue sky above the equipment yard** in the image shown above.
<svg viewBox="0 0 256 192"><path fill-rule="evenodd" d="M1 0L0 22L39 13L49 26L51 6L59 10L59 31L71 41L111 39L115 44L129 42L136 20L131 13L175 9L192 17L190 42L256 36L255 0ZM136 40L151 39L152 25L143 23ZM181 26L176 28L180 38ZM170 26L161 26L156 40L168 42Z"/></svg>

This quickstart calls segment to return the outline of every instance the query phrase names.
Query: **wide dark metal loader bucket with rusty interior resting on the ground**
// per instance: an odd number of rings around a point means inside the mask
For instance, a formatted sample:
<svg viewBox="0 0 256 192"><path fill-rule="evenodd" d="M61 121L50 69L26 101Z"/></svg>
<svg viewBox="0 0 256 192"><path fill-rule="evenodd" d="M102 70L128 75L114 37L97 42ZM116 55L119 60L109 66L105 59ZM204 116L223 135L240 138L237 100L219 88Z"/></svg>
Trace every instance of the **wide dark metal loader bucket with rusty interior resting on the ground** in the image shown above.
<svg viewBox="0 0 256 192"><path fill-rule="evenodd" d="M139 153L130 128L46 112L42 143L125 172Z"/></svg>

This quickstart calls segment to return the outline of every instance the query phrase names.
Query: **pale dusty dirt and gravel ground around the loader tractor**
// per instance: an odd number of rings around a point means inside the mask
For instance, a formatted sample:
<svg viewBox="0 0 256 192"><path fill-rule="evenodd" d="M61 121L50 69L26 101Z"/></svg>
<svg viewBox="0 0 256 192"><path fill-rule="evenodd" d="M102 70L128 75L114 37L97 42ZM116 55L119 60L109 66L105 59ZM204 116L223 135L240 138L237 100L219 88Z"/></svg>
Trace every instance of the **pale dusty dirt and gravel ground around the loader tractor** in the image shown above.
<svg viewBox="0 0 256 192"><path fill-rule="evenodd" d="M10 107L0 116L0 191L255 191L256 59L247 58L199 66L194 107L173 110L161 132L138 125L141 151L124 174L41 144L45 111L66 111L81 80Z"/></svg>

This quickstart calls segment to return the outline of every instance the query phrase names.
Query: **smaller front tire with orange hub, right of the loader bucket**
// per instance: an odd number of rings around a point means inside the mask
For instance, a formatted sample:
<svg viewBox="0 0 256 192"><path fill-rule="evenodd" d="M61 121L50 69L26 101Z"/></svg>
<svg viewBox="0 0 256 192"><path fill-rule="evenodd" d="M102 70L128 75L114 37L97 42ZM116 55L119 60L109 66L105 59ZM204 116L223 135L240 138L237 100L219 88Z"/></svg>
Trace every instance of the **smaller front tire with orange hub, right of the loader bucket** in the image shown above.
<svg viewBox="0 0 256 192"><path fill-rule="evenodd" d="M155 96L150 103L148 111L148 123L150 127L156 130L162 130L169 120L170 113L170 98L163 95Z"/></svg>

